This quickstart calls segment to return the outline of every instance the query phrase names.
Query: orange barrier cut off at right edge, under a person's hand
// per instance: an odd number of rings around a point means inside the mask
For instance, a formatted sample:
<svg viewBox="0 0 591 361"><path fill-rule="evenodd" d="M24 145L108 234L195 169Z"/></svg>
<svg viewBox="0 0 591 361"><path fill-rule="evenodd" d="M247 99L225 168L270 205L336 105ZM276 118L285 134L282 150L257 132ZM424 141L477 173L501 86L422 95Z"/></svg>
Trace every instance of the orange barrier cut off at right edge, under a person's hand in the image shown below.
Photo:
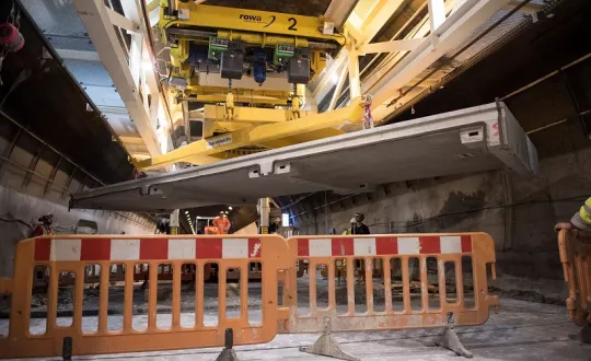
<svg viewBox="0 0 591 361"><path fill-rule="evenodd" d="M581 329L581 339L591 343L591 232L560 231L558 249L568 282L568 315Z"/></svg>

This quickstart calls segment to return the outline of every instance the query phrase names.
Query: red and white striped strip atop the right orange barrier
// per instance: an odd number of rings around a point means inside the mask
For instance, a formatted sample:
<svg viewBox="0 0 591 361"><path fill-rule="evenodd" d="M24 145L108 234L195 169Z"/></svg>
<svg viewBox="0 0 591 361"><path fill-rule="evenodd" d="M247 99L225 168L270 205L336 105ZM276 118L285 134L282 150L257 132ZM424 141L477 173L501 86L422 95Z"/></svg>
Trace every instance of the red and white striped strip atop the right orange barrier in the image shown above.
<svg viewBox="0 0 591 361"><path fill-rule="evenodd" d="M470 235L367 238L299 238L299 257L472 253Z"/></svg>

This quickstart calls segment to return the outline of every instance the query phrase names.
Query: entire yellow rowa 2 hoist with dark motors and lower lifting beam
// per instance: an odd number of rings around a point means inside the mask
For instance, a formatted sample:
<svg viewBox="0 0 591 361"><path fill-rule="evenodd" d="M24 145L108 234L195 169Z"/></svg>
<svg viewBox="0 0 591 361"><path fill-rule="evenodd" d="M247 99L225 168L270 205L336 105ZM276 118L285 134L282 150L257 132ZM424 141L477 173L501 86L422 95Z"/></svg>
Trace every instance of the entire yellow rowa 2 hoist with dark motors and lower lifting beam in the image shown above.
<svg viewBox="0 0 591 361"><path fill-rule="evenodd" d="M318 114L306 96L305 84L325 69L327 54L352 44L331 21L195 2L160 5L169 90L176 102L202 105L188 112L202 121L202 139L135 161L138 168L208 164L331 137L363 118L368 97Z"/></svg>

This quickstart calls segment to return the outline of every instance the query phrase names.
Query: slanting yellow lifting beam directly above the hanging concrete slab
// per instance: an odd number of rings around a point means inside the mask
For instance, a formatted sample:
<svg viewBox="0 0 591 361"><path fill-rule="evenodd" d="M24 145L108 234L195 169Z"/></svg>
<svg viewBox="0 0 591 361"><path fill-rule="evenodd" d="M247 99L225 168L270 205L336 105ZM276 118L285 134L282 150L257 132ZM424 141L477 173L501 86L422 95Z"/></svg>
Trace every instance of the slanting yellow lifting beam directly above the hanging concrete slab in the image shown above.
<svg viewBox="0 0 591 361"><path fill-rule="evenodd" d="M337 110L314 114L292 121L244 128L225 135L199 140L166 154L137 162L136 166L140 170L146 170L185 161L189 158L211 155L241 147L262 144L276 139L336 127L345 120L359 123L362 116L363 103L360 97L357 97L354 98L348 106Z"/></svg>

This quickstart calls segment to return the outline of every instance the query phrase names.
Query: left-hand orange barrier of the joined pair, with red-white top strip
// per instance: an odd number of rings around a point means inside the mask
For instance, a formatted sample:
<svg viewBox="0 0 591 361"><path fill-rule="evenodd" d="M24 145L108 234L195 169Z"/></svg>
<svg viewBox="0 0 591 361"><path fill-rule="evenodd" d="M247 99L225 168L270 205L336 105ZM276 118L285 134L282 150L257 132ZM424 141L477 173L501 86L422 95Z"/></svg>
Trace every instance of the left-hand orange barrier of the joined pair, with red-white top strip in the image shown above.
<svg viewBox="0 0 591 361"><path fill-rule="evenodd" d="M236 345L264 343L277 334L278 319L286 318L287 310L277 306L277 275L289 263L287 242L275 235L251 237L224 236L54 236L25 240L18 244L12 278L0 278L0 294L12 295L9 337L0 337L0 358L48 357L62 354L96 354L131 351L224 346L225 330ZM260 264L264 265L260 268ZM93 267L100 266L100 301L97 327L88 333L83 324L84 279ZM86 268L91 267L91 268ZM134 278L137 268L148 267L147 325L137 330L134 319ZM157 324L158 276L172 269L172 319L169 328ZM248 279L240 279L240 315L227 314L225 275L241 271L248 275L255 268L262 273L262 319L248 319ZM39 270L44 269L44 270ZM48 269L47 322L45 333L32 335L30 330L32 288L36 273ZM182 276L194 270L195 308L194 326L181 325ZM127 271L126 271L127 270ZM134 271L131 271L134 270ZM205 323L204 278L216 270L218 318L213 326ZM109 276L124 272L125 294L123 325L113 331L107 327L112 317L108 312ZM73 280L73 310L71 324L63 326L58 316L60 277ZM60 295L61 296L61 295ZM264 322L263 322L264 321ZM232 333L231 333L232 334Z"/></svg>

